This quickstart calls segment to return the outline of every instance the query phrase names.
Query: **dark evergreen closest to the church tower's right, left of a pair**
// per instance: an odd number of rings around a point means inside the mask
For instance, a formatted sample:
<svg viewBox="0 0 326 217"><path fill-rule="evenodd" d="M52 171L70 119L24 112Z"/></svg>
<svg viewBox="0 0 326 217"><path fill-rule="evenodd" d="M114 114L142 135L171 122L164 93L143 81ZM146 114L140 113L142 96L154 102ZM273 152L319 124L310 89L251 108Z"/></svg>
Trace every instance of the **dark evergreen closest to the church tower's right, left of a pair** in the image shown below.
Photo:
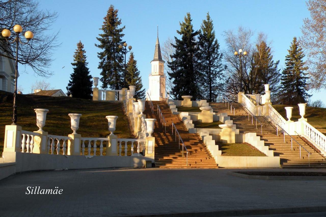
<svg viewBox="0 0 326 217"><path fill-rule="evenodd" d="M199 48L196 36L198 31L193 30L190 13L185 16L185 21L180 23L181 39L175 38L175 53L171 55L171 62L168 66L171 72L169 76L173 79L171 94L181 100L183 95L193 96L193 100L200 98L200 83L198 70Z"/></svg>

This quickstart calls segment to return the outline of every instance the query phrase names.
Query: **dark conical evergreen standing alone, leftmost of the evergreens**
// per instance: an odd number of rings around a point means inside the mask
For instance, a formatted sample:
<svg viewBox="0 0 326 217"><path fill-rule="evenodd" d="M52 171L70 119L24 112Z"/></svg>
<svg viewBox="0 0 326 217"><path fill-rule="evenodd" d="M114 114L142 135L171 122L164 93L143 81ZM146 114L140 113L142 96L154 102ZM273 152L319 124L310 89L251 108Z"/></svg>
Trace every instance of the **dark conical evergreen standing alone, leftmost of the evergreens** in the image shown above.
<svg viewBox="0 0 326 217"><path fill-rule="evenodd" d="M89 68L86 62L86 51L81 41L77 43L77 49L74 54L73 65L74 72L70 74L70 80L67 86L67 95L81 99L92 99L92 76L89 74Z"/></svg>

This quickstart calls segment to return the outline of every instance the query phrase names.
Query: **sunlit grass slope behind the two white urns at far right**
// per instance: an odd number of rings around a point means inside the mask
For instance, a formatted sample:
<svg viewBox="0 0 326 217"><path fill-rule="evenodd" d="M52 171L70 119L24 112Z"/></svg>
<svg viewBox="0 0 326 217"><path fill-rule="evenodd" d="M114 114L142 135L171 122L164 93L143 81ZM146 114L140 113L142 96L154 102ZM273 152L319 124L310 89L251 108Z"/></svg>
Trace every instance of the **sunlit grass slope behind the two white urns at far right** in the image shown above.
<svg viewBox="0 0 326 217"><path fill-rule="evenodd" d="M284 107L286 105L273 105L273 107L280 113L285 120L288 120L286 117L286 110ZM299 114L299 106L292 106L292 121L298 121L301 118ZM326 135L326 108L316 108L316 107L306 107L306 112L304 118L307 118L308 123L318 129L321 133Z"/></svg>

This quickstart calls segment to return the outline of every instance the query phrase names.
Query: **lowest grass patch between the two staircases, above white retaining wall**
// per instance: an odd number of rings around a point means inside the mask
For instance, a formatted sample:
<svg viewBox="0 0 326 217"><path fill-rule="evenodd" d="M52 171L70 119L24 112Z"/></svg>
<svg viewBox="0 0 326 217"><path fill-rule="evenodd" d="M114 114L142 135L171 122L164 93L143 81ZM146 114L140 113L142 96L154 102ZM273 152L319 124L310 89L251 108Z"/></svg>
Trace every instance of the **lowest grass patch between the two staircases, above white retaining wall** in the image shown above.
<svg viewBox="0 0 326 217"><path fill-rule="evenodd" d="M248 143L222 143L216 142L222 156L266 156Z"/></svg>

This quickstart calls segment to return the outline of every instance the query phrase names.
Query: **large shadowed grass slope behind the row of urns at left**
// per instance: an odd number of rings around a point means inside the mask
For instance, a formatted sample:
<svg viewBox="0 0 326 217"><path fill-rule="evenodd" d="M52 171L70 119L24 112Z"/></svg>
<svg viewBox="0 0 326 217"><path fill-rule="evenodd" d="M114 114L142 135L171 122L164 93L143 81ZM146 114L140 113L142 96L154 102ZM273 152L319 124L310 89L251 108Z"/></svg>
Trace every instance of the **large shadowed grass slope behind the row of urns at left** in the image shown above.
<svg viewBox="0 0 326 217"><path fill-rule="evenodd" d="M2 156L5 137L5 125L11 124L13 94L0 91L0 157ZM130 132L122 103L101 102L71 97L51 97L40 95L18 94L17 96L17 125L23 130L36 131L36 113L34 108L49 109L44 131L52 135L68 136L70 117L68 113L80 113L77 133L82 137L106 137L109 135L107 115L119 116L114 134L119 138L133 138ZM87 147L87 144L86 144Z"/></svg>

